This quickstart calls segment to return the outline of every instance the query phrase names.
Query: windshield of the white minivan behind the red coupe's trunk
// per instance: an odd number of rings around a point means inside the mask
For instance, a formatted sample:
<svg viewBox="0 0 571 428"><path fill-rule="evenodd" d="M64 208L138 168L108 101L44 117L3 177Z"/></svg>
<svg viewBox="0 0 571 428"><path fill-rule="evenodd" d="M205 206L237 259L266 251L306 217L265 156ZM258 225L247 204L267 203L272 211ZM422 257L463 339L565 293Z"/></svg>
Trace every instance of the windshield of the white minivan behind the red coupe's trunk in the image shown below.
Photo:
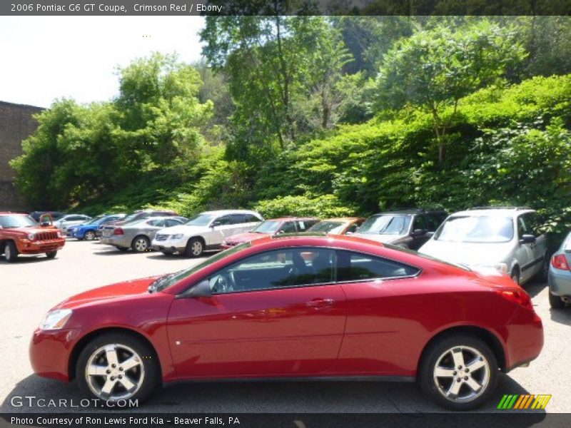
<svg viewBox="0 0 571 428"><path fill-rule="evenodd" d="M507 243L512 238L510 217L488 215L450 217L434 235L434 240L455 243Z"/></svg>

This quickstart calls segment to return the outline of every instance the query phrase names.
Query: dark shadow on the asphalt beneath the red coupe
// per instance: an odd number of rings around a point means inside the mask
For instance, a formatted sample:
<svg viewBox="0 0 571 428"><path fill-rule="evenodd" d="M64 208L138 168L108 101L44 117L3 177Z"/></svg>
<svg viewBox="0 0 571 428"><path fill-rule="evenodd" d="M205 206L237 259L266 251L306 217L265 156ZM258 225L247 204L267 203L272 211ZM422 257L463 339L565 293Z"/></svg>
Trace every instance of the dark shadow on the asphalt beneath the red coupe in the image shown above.
<svg viewBox="0 0 571 428"><path fill-rule="evenodd" d="M500 374L500 384L484 407L475 413L511 413L498 410L504 394L530 394L515 380ZM27 397L34 397L29 399ZM43 402L39 400L44 399ZM49 400L57 407L46 407ZM22 379L1 404L3 413L24 412L113 412L92 407L75 382L64 384L35 374ZM62 405L61 403L65 403ZM125 412L126 409L115 411ZM392 382L194 382L163 387L141 407L129 412L149 413L399 413L421 417L424 414L453 414L433 404L412 383ZM523 411L522 411L523 412ZM463 414L466 413L457 413ZM531 426L545 418L545 410L525 411L525 423ZM480 420L480 417L478 417ZM482 422L483 423L483 422ZM483 424L485 426L486 424ZM490 425L491 426L491 425Z"/></svg>

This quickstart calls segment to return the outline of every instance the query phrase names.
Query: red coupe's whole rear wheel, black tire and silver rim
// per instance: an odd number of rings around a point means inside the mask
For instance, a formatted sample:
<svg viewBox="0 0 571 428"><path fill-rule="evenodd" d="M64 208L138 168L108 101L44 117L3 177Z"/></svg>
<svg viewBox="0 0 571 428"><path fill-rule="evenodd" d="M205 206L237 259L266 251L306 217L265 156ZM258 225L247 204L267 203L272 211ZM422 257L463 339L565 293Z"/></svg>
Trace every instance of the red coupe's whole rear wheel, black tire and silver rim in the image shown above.
<svg viewBox="0 0 571 428"><path fill-rule="evenodd" d="M436 375L437 367L442 376ZM470 372L470 367L477 368ZM484 341L465 334L446 335L430 343L423 352L418 382L423 392L440 406L470 410L490 399L498 372L496 357ZM479 390L474 388L478 386Z"/></svg>

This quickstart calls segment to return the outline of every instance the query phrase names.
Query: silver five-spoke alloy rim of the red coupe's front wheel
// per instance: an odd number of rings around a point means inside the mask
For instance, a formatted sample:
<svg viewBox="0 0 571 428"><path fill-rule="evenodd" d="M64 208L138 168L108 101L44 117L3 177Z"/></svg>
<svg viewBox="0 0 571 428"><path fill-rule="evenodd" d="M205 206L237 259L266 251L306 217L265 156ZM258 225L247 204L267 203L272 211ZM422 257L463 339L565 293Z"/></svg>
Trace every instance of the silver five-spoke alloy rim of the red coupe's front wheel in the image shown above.
<svg viewBox="0 0 571 428"><path fill-rule="evenodd" d="M143 360L131 348L118 343L98 348L87 361L86 383L101 399L128 399L145 379Z"/></svg>

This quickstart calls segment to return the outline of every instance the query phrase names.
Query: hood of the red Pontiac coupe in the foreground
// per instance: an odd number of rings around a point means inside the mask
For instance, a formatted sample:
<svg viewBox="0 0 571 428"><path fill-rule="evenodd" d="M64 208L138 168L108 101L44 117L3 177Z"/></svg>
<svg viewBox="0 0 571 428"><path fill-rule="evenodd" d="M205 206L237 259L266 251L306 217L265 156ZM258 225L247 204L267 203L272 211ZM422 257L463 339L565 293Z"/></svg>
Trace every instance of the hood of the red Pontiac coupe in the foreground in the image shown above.
<svg viewBox="0 0 571 428"><path fill-rule="evenodd" d="M93 303L100 303L108 300L119 300L125 297L132 297L134 295L147 294L148 286L161 276L162 275L156 275L138 280L117 282L116 284L87 290L79 293L78 295L69 297L57 305L56 308L74 309L75 307L91 305Z"/></svg>

